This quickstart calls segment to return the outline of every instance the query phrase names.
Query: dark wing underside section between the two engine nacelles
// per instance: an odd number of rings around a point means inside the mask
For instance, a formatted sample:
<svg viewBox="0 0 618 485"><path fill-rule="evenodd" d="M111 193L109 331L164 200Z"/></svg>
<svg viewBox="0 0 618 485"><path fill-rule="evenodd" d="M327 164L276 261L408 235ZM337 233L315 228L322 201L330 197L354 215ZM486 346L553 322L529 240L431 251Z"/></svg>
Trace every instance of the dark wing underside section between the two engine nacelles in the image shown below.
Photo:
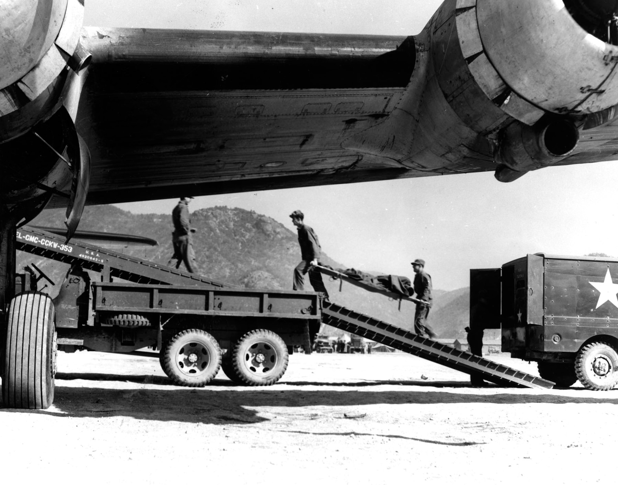
<svg viewBox="0 0 618 485"><path fill-rule="evenodd" d="M90 204L493 165L482 157L414 170L389 154L347 146L397 110L414 67L412 38L88 34L93 62L76 126L92 159Z"/></svg>

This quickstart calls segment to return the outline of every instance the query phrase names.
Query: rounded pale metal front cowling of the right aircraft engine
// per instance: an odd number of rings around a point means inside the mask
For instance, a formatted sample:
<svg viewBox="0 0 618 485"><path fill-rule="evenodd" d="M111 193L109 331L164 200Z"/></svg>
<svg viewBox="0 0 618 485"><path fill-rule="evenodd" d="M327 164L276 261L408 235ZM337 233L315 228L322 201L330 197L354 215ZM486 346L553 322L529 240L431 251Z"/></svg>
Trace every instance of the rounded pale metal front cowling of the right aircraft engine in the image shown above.
<svg viewBox="0 0 618 485"><path fill-rule="evenodd" d="M612 27L604 22L602 32L576 19L596 10L602 22L607 12L616 11L616 2L608 3L476 0L483 50L506 85L543 110L590 114L607 109L618 104L618 47L604 41L612 40L607 35Z"/></svg>

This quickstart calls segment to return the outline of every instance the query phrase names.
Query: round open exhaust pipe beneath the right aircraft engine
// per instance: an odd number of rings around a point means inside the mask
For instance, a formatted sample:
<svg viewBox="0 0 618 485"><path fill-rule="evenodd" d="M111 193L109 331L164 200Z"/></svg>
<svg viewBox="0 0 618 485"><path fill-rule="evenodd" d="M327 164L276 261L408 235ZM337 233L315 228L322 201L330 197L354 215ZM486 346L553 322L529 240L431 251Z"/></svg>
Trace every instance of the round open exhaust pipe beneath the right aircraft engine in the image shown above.
<svg viewBox="0 0 618 485"><path fill-rule="evenodd" d="M528 126L511 123L502 132L495 160L494 176L501 182L516 180L530 170L556 164L574 151L579 131L574 123L562 118Z"/></svg>

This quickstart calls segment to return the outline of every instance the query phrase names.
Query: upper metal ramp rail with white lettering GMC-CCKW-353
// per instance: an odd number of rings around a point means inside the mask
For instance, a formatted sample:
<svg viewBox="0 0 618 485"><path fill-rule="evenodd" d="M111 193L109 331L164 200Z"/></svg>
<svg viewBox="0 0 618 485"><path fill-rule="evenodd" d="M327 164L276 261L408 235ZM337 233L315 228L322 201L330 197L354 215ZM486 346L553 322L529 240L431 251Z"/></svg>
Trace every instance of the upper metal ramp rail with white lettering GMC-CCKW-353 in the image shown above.
<svg viewBox="0 0 618 485"><path fill-rule="evenodd" d="M70 265L79 264L84 269L101 273L103 281L111 281L110 278L114 276L132 283L205 284L235 288L231 284L109 251L93 244L65 243L61 236L28 226L15 231L15 249Z"/></svg>

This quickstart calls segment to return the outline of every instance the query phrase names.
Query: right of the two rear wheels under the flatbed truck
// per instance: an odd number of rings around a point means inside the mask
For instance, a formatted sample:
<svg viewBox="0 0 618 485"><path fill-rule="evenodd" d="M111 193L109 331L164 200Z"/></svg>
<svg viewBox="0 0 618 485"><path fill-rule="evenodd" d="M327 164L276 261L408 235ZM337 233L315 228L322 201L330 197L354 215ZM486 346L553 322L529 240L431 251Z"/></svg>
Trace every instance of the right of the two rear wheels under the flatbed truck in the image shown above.
<svg viewBox="0 0 618 485"><path fill-rule="evenodd" d="M289 355L283 339L270 330L245 333L232 350L240 381L249 386L271 386L284 375Z"/></svg>

